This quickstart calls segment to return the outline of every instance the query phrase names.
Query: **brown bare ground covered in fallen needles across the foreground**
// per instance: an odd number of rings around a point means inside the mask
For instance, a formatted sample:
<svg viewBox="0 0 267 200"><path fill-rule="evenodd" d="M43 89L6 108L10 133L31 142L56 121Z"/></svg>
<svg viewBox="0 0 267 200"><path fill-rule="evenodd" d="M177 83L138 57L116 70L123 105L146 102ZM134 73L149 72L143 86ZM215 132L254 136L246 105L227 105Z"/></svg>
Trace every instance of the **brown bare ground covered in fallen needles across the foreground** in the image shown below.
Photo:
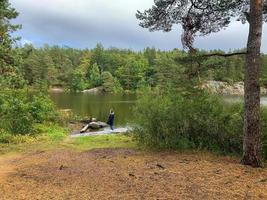
<svg viewBox="0 0 267 200"><path fill-rule="evenodd" d="M267 199L267 169L201 153L53 150L0 159L0 199Z"/></svg>

